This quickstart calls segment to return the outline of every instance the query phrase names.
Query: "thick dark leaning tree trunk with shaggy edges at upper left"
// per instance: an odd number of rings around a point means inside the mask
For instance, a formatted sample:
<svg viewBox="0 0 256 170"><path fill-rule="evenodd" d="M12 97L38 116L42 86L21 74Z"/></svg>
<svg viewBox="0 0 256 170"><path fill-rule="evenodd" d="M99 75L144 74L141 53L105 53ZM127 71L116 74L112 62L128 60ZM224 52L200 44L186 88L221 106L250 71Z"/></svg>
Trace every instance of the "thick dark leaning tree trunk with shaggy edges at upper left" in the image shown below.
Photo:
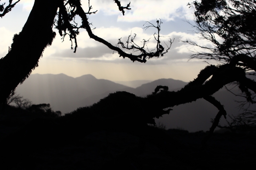
<svg viewBox="0 0 256 170"><path fill-rule="evenodd" d="M0 59L0 103L38 66L43 50L52 44L54 17L59 0L35 0L22 31L15 34L11 50Z"/></svg>

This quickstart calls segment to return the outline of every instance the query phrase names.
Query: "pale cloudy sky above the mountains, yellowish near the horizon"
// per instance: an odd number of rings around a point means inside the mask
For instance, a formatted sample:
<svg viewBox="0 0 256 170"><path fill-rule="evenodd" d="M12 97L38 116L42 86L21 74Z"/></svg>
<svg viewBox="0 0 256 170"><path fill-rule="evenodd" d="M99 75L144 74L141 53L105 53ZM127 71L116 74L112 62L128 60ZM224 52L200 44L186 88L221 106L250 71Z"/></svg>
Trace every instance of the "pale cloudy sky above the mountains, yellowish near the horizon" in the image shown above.
<svg viewBox="0 0 256 170"><path fill-rule="evenodd" d="M58 30L52 46L47 47L39 60L39 67L32 74L64 73L71 77L92 74L97 79L111 81L156 80L172 78L182 81L192 81L200 70L207 66L203 60L191 59L192 51L201 51L180 40L193 40L199 44L209 45L209 42L199 39L199 35L187 21L193 24L193 8L188 8L192 0L119 0L122 6L130 2L131 10L125 10L123 16L113 0L90 0L92 10L96 14L89 15L93 33L112 45L119 38L126 41L128 35L137 35L135 42L140 44L143 39L149 40L147 46L153 50L156 46L153 34L156 29L143 29L146 21L156 24L161 19L161 41L168 44L168 38L174 40L168 53L163 57L151 58L146 63L132 62L129 58L119 57L117 52L90 39L86 30L80 30L76 53L71 50L71 42L66 37L64 41ZM1 0L1 4L7 0ZM22 30L33 7L34 0L21 0L4 17L0 18L0 58L4 57L11 46L12 37ZM88 10L88 0L81 0L84 11ZM79 18L78 20L79 21ZM164 43L162 43L164 44ZM164 46L166 47L166 46Z"/></svg>

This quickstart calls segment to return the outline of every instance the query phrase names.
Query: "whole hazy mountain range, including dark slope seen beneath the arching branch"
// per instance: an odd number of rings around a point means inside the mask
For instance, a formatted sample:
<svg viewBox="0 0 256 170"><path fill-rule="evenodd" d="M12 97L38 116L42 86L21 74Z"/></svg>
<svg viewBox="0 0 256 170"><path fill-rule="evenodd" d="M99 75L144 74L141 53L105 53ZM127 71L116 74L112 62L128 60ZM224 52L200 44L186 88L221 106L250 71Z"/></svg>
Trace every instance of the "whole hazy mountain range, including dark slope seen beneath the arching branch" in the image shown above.
<svg viewBox="0 0 256 170"><path fill-rule="evenodd" d="M133 86L138 87L133 88L110 80L96 79L90 74L78 78L69 77L65 74L32 74L23 84L18 85L15 94L27 98L33 104L50 103L54 111L61 111L62 114L65 114L74 111L78 107L90 106L109 93L116 91L127 91L144 97L151 94L157 85L168 86L169 91L177 91L187 84L174 79L135 82ZM127 82L119 83L127 84ZM233 92L238 93L238 89L233 89ZM224 105L229 115L237 115L241 112L238 103L234 100L239 101L243 98L235 97L225 89L219 90L213 96ZM167 129L178 128L190 132L209 130L211 126L210 119L218 113L217 108L203 99L175 106L172 109L173 111L169 115L156 119L156 123L162 123ZM220 124L226 124L224 118L221 119Z"/></svg>

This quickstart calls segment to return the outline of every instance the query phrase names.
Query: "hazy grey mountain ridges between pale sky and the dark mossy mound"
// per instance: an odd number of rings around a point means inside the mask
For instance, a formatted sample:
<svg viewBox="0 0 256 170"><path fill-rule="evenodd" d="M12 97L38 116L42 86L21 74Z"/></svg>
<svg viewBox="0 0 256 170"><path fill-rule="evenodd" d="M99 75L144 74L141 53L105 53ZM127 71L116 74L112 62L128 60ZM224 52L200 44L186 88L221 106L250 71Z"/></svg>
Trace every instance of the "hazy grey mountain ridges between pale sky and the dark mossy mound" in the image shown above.
<svg viewBox="0 0 256 170"><path fill-rule="evenodd" d="M96 79L91 74L77 78L65 74L32 74L15 92L34 103L50 103L54 110L67 113L89 106L115 91L145 96L153 92L157 85L168 85L170 90L185 84L180 80L159 79L134 89L110 80Z"/></svg>

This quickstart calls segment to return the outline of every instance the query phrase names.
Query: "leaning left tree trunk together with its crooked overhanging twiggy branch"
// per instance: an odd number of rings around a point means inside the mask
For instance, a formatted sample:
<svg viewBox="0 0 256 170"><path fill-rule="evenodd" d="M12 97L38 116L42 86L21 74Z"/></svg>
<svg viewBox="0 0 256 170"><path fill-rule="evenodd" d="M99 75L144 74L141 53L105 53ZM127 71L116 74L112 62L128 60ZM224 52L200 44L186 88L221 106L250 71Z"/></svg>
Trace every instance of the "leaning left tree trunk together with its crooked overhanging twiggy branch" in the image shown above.
<svg viewBox="0 0 256 170"><path fill-rule="evenodd" d="M84 12L81 7L80 0L35 0L31 13L25 23L22 31L19 34L15 34L13 43L7 55L0 59L0 102L4 103L6 98L14 93L15 88L19 83L22 83L31 74L32 70L38 67L38 60L42 56L43 50L52 44L52 41L56 35L53 32L53 24L59 30L59 34L63 36L69 36L71 40L71 49L73 49L73 40L75 42L74 52L77 49L76 36L79 34L79 29L86 29L90 38L99 41L110 49L117 51L120 57L130 58L130 60L146 62L146 58L159 57L164 55L171 45L164 47L160 44L160 24L161 21L157 21L157 26L151 24L148 27L154 27L158 29L158 34L155 34L156 50L147 51L144 49L145 43L142 47L138 46L134 42L135 36L131 40L127 40L123 43L121 39L118 41L118 45L121 45L125 49L129 49L139 52L138 55L134 53L126 53L118 46L113 46L106 40L94 35L88 22L87 15L91 12L90 6L88 12ZM114 1L119 10L124 15L124 10L130 10L129 4L126 7L121 6L118 0ZM79 16L82 19L82 24L78 26L75 22L75 17ZM58 19L55 19L57 17ZM130 36L129 36L130 37ZM124 46L126 45L126 46ZM128 46L130 45L130 46Z"/></svg>

